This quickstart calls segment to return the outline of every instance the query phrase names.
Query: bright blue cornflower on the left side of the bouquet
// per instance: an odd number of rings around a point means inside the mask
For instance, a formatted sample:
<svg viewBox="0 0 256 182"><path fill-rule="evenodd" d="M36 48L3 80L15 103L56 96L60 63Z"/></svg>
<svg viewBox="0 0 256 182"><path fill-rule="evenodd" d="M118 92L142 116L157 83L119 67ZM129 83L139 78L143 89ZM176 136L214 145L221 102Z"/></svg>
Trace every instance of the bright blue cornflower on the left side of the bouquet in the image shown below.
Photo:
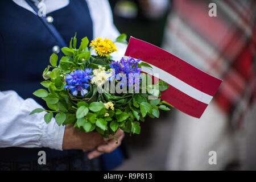
<svg viewBox="0 0 256 182"><path fill-rule="evenodd" d="M85 96L88 93L89 80L92 79L92 69L86 68L85 71L82 69L76 69L72 73L65 76L67 85L64 85L65 89L70 89L73 96L77 96L78 92L81 92L81 96Z"/></svg>

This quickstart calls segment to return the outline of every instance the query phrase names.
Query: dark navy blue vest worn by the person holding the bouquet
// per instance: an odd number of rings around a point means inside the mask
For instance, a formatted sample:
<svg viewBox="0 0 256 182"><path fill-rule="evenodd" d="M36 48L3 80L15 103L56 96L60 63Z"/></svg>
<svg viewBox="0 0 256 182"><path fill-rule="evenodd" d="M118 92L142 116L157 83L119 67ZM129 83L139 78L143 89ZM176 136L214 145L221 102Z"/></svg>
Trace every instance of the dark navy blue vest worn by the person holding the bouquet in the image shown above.
<svg viewBox="0 0 256 182"><path fill-rule="evenodd" d="M85 36L92 40L92 19L85 0L71 0L68 6L47 16L53 17L53 25L65 43L69 44L75 32L78 40ZM20 97L34 98L46 107L43 100L32 93L42 88L42 72L49 64L49 56L54 46L58 46L58 42L38 16L13 1L0 1L0 90L15 90ZM58 56L61 57L61 53ZM38 160L40 150L46 151L47 158L77 152L49 148L0 148L0 160Z"/></svg>

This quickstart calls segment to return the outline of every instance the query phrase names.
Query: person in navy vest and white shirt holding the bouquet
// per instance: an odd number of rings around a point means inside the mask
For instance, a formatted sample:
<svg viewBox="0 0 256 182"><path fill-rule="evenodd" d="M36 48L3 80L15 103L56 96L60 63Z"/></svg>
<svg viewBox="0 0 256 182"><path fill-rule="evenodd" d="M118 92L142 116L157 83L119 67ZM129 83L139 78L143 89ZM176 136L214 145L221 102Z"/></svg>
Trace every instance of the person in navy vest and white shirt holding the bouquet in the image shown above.
<svg viewBox="0 0 256 182"><path fill-rule="evenodd" d="M117 38L109 2L3 0L0 11L0 170L102 169L97 157L121 144L122 130L116 143L114 137L81 133L72 125L47 125L44 113L29 113L47 107L32 93L41 88L49 55L62 56L60 48L74 32L78 39ZM126 46L117 47L123 55ZM38 164L39 151L46 152L46 165Z"/></svg>

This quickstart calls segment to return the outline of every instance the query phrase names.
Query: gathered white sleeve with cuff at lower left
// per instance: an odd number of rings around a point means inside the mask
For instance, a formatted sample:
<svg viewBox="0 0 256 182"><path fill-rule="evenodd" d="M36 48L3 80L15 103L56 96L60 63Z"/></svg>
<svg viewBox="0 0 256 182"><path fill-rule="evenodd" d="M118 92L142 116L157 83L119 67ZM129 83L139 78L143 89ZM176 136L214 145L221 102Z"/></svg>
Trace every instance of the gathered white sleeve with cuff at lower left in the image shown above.
<svg viewBox="0 0 256 182"><path fill-rule="evenodd" d="M30 112L40 106L32 98L23 100L14 91L0 92L0 147L48 147L62 150L64 126L55 119L44 121L44 114Z"/></svg>

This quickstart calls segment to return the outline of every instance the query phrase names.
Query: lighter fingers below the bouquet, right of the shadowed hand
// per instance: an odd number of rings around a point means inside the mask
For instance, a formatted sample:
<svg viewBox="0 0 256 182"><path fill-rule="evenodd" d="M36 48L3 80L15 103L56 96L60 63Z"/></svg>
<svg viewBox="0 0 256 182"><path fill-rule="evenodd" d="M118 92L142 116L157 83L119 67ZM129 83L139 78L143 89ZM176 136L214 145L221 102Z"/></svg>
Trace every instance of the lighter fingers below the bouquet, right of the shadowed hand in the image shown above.
<svg viewBox="0 0 256 182"><path fill-rule="evenodd" d="M88 159L97 158L98 156L109 152L112 152L121 145L123 137L125 137L125 134L123 130L118 129L117 133L115 133L115 137L117 138L117 141L114 139L112 135L109 135L109 138L104 138L105 144L100 144L96 150L93 150L92 152L89 152ZM84 150L86 151L86 150Z"/></svg>

